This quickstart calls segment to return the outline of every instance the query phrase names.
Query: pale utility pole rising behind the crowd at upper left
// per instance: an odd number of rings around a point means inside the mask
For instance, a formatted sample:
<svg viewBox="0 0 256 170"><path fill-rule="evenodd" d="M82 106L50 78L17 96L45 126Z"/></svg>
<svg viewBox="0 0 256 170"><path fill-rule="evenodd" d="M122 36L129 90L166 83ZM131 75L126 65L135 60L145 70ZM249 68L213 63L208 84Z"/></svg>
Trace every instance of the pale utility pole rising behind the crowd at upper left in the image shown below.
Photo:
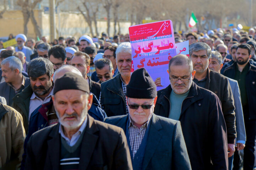
<svg viewBox="0 0 256 170"><path fill-rule="evenodd" d="M55 24L55 0L49 0L49 18L50 18L50 41L53 42L56 38Z"/></svg>

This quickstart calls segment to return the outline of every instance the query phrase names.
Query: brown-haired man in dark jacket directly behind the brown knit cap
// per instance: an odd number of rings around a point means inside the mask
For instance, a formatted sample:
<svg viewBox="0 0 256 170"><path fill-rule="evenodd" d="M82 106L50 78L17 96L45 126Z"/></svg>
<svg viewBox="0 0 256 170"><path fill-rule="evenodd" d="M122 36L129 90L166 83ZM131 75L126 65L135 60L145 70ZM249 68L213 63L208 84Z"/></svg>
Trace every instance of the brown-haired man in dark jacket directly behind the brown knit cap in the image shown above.
<svg viewBox="0 0 256 170"><path fill-rule="evenodd" d="M79 71L82 73L82 76L88 81L90 92L94 94L97 99L100 99L100 91L101 91L101 85L100 83L96 83L95 81L92 81L88 76L87 73L89 73L90 70L90 57L84 52L77 51L74 53L72 60L71 60L71 66L76 67L79 69Z"/></svg>

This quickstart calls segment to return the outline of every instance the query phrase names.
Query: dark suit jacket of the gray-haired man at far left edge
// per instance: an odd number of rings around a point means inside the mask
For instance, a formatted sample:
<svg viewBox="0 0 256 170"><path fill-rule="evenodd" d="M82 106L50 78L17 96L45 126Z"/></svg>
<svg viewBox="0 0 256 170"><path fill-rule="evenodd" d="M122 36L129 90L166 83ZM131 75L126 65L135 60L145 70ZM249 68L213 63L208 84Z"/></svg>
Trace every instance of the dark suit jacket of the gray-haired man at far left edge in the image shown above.
<svg viewBox="0 0 256 170"><path fill-rule="evenodd" d="M25 89L28 85L30 85L30 78L25 77L25 86L21 88L21 90L18 92L20 93L23 89ZM11 91L14 95L10 96ZM0 96L4 97L6 100L6 103L8 106L12 105L12 98L15 96L14 89L10 87L6 82L0 83Z"/></svg>

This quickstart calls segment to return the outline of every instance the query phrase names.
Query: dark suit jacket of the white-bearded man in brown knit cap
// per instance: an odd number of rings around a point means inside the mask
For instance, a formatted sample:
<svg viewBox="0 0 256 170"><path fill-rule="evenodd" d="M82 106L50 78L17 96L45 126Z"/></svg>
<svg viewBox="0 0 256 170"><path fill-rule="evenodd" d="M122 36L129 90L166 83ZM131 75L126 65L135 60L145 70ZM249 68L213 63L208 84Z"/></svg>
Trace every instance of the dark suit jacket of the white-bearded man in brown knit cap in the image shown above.
<svg viewBox="0 0 256 170"><path fill-rule="evenodd" d="M81 144L79 170L132 170L126 136L121 128L88 115ZM60 124L35 132L28 141L26 170L58 170Z"/></svg>

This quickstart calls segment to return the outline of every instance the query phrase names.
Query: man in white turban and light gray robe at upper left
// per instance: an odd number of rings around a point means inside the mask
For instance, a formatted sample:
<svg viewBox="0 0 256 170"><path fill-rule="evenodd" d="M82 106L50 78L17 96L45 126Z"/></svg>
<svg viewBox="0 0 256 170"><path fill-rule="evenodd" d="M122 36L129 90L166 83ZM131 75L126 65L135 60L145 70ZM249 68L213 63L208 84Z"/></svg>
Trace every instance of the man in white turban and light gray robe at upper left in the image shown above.
<svg viewBox="0 0 256 170"><path fill-rule="evenodd" d="M34 53L30 47L25 46L27 41L27 37L24 34L18 34L16 36L17 47L15 47L15 51L22 51L26 56L26 61L30 61L30 56Z"/></svg>

